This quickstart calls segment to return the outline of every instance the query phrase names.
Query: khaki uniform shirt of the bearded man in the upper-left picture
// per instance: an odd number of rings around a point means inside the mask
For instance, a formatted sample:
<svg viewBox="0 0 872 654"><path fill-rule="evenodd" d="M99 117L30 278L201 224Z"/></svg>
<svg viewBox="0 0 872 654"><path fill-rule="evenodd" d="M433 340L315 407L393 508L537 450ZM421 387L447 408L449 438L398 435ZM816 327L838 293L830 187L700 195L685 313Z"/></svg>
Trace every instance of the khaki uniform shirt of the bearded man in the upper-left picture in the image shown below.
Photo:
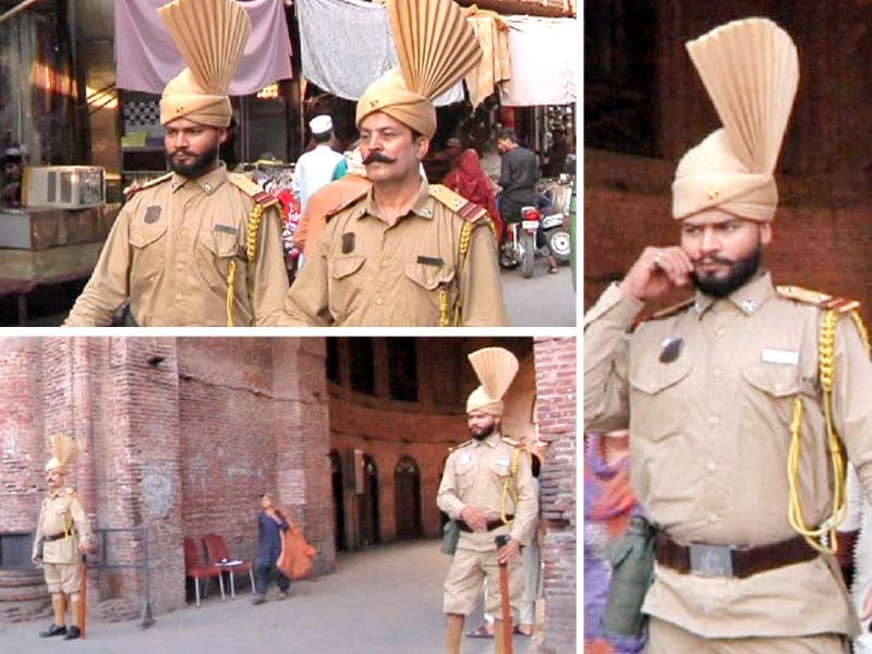
<svg viewBox="0 0 872 654"><path fill-rule="evenodd" d="M233 324L274 325L288 291L281 219L264 210L257 258L247 262L254 201L223 164L196 180L172 173L138 191L118 216L100 259L64 325L105 326L130 298L136 324L227 326L227 279L237 262ZM249 296L249 277L254 294Z"/></svg>

